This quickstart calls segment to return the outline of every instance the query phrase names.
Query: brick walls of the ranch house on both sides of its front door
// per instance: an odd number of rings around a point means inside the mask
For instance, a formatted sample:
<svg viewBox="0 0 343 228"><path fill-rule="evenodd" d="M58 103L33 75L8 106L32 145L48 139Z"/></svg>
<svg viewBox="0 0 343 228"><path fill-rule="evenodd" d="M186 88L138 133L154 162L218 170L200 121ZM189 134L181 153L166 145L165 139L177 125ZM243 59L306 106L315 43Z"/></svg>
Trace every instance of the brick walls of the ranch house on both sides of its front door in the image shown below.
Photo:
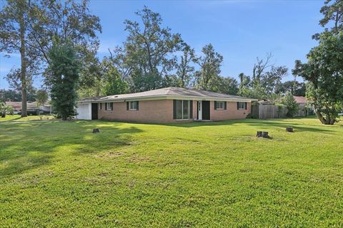
<svg viewBox="0 0 343 228"><path fill-rule="evenodd" d="M98 107L99 108L99 107ZM193 119L197 118L197 101L193 100ZM214 101L210 102L211 120L229 120L245 118L248 110L237 110L237 103L228 102L227 110L214 110ZM177 123L192 120L173 119L173 100L140 100L139 110L126 110L126 102L113 103L113 110L98 110L98 118L104 120L119 120L141 123Z"/></svg>

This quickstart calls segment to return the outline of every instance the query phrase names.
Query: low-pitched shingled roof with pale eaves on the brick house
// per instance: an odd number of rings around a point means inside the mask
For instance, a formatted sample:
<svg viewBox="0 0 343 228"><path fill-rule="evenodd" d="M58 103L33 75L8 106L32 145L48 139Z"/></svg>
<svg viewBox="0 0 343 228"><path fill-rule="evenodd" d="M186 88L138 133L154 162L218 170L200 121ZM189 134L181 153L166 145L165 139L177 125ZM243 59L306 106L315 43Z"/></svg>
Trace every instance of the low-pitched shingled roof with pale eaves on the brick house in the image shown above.
<svg viewBox="0 0 343 228"><path fill-rule="evenodd" d="M106 102L106 101L126 101L126 100L159 100L159 99L188 99L188 100L232 100L232 101L252 101L256 99L244 98L238 95L228 95L224 93L214 93L204 90L189 88L160 88L141 93L127 93L119 95L100 96L80 100L79 103Z"/></svg>

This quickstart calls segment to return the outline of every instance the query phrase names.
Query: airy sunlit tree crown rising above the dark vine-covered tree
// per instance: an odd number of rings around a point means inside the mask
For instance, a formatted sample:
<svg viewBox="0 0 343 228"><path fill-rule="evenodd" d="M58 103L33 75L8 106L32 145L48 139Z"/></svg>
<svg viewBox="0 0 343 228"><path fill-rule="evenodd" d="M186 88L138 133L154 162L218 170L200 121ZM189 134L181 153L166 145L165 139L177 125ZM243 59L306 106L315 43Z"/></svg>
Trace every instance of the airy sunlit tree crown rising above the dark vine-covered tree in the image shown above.
<svg viewBox="0 0 343 228"><path fill-rule="evenodd" d="M39 51L41 58L49 63L49 50L53 46L54 37L61 41L71 41L82 61L94 55L99 46L97 32L101 32L98 16L90 13L88 1L34 1L31 9L28 28L32 46Z"/></svg>

